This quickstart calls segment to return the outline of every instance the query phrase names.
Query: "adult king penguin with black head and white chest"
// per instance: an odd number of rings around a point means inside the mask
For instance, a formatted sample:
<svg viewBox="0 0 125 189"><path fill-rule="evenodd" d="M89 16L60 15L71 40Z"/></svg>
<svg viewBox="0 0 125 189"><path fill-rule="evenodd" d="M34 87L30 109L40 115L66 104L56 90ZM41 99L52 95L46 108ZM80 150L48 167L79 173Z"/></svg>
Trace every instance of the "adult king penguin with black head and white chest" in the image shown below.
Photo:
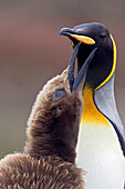
<svg viewBox="0 0 125 189"><path fill-rule="evenodd" d="M107 28L92 22L60 32L79 41L79 69L97 47L83 88L84 108L77 143L77 165L86 170L86 189L123 189L125 181L125 128L114 98L116 46Z"/></svg>

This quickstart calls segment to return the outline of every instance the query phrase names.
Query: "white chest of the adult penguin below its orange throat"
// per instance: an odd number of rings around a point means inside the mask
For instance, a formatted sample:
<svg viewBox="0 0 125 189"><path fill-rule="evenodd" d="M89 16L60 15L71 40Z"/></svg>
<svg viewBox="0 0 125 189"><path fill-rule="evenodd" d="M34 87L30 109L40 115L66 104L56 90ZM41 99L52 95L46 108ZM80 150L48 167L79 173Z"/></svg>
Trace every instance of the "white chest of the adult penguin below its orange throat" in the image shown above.
<svg viewBox="0 0 125 189"><path fill-rule="evenodd" d="M80 128L76 163L86 171L85 189L123 189L125 158L112 126Z"/></svg>

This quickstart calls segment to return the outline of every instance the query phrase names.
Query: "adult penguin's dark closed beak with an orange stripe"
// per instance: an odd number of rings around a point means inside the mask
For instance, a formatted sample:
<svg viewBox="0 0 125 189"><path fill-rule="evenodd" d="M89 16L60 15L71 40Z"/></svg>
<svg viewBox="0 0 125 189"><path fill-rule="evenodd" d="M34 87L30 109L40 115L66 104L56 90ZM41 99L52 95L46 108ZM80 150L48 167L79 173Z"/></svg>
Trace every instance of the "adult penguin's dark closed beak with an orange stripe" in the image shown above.
<svg viewBox="0 0 125 189"><path fill-rule="evenodd" d="M72 42L73 42L73 39L75 39L76 41L82 41L85 44L95 44L94 39L83 36L83 34L81 36L80 33L75 31L75 29L63 28L61 29L60 34L69 37L72 40ZM72 44L74 46L74 43Z"/></svg>

